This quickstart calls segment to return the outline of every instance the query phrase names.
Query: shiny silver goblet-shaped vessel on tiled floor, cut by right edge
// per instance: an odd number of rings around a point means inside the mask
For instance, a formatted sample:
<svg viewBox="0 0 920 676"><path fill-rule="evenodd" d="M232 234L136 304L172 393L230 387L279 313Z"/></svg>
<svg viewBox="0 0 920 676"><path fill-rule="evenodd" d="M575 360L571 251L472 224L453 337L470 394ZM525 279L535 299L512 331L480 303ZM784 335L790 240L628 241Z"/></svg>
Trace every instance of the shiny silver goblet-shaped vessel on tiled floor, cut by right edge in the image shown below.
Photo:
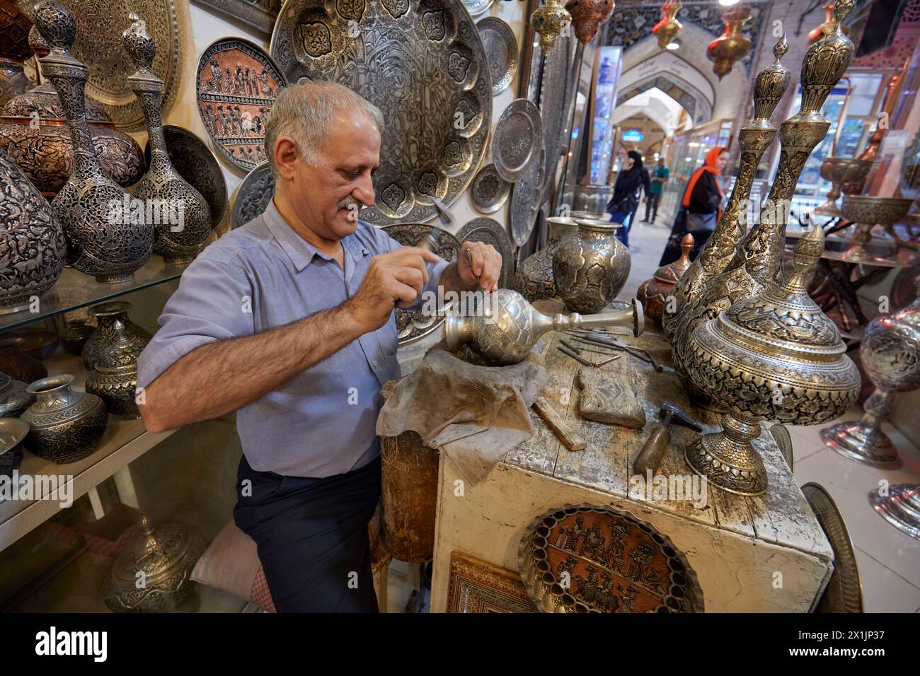
<svg viewBox="0 0 920 676"><path fill-rule="evenodd" d="M914 284L920 292L920 277ZM881 423L891 413L895 393L920 387L920 298L893 315L869 322L859 356L875 385L875 392L863 404L866 415L821 430L822 441L857 463L897 469L901 458Z"/></svg>

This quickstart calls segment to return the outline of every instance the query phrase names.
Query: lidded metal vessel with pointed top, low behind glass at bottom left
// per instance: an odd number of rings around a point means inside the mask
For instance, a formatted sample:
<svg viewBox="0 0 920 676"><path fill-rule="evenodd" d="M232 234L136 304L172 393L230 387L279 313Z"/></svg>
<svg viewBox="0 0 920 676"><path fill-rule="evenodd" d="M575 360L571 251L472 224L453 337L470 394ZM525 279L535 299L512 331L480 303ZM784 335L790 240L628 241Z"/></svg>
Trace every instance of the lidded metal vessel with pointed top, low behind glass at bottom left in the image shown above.
<svg viewBox="0 0 920 676"><path fill-rule="evenodd" d="M144 515L141 533L102 580L102 598L112 613L175 613L194 584L191 571L203 553L198 533L177 523L154 528Z"/></svg>

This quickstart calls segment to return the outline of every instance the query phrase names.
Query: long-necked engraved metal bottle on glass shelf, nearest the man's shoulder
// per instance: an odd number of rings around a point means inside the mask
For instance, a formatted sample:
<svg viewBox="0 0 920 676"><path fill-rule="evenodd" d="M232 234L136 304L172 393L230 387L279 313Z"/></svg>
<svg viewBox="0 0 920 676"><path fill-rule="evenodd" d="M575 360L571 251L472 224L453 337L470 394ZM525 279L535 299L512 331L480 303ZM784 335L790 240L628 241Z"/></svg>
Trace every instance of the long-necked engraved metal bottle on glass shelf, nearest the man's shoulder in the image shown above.
<svg viewBox="0 0 920 676"><path fill-rule="evenodd" d="M161 205L160 217L155 219L154 253L167 263L188 263L211 235L211 209L169 161L160 119L163 80L151 70L156 52L154 40L140 17L132 13L130 18L132 25L122 38L137 71L128 76L128 82L141 102L150 138L150 168L134 189L134 199Z"/></svg>

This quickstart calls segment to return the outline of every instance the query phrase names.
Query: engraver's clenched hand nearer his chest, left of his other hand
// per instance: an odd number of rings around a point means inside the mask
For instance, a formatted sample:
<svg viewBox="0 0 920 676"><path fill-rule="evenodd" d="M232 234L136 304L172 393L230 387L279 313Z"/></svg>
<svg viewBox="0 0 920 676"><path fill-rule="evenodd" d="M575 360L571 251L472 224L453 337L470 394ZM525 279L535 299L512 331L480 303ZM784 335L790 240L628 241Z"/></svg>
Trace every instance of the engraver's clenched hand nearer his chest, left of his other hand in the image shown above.
<svg viewBox="0 0 920 676"><path fill-rule="evenodd" d="M364 333L384 326L394 306L415 303L428 283L426 261L437 263L438 257L419 246L401 246L371 258L361 287L345 303Z"/></svg>

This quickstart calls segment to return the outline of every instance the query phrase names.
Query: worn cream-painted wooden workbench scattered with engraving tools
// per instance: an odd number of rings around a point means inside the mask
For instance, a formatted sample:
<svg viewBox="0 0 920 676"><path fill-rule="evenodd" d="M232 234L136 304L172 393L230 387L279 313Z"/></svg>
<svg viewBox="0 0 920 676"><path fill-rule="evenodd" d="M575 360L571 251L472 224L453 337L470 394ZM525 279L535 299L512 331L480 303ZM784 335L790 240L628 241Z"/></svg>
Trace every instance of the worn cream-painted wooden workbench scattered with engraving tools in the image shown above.
<svg viewBox="0 0 920 676"><path fill-rule="evenodd" d="M552 381L544 395L587 441L587 448L569 452L531 410L535 434L507 453L476 486L463 482L463 490L457 491L455 482L463 477L446 454L440 454L432 612L446 608L452 552L516 573L518 546L527 525L546 510L581 503L627 510L670 537L696 570L707 613L810 611L834 571L834 552L767 430L770 423L754 441L769 474L765 495L742 497L708 487L702 508L688 500L637 498L635 490L630 497L633 461L659 422L664 401L683 408L706 431L719 429L719 415L690 404L671 367L670 345L650 331L621 339L648 349L664 365L663 372L628 355L602 367L612 378L635 384L645 426L628 430L581 419L575 382L581 364L557 349L560 338L570 337L547 334L535 347ZM698 432L681 426L671 429L672 441L659 473L693 475L683 452Z"/></svg>

